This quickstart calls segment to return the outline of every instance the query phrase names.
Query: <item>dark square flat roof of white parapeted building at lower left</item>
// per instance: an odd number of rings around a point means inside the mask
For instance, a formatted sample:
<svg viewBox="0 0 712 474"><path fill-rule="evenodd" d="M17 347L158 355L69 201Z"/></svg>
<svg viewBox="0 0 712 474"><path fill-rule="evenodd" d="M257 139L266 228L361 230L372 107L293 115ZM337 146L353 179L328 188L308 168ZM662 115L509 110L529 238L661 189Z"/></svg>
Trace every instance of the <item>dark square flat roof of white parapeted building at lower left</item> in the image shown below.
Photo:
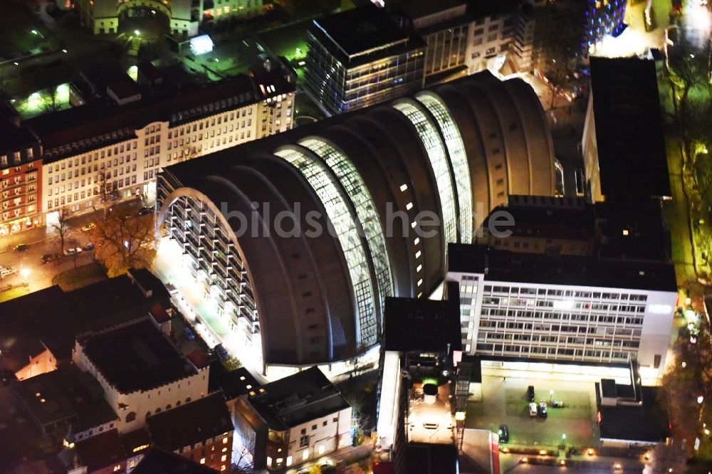
<svg viewBox="0 0 712 474"><path fill-rule="evenodd" d="M124 394L196 373L149 320L83 335L78 343L99 372Z"/></svg>

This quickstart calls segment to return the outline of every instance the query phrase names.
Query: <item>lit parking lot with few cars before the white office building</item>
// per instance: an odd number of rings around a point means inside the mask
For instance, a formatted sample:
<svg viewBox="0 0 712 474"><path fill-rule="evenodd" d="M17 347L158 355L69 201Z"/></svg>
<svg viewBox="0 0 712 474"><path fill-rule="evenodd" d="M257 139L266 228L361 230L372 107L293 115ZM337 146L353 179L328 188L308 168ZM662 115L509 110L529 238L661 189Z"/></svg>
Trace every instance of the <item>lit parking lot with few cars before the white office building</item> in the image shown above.
<svg viewBox="0 0 712 474"><path fill-rule="evenodd" d="M534 386L536 404L544 401L548 405L546 418L530 416L529 385ZM565 406L553 408L550 401L562 401ZM556 448L563 443L585 448L599 444L595 416L593 383L483 376L482 401L468 404L465 425L496 433L501 424L506 424L510 445Z"/></svg>

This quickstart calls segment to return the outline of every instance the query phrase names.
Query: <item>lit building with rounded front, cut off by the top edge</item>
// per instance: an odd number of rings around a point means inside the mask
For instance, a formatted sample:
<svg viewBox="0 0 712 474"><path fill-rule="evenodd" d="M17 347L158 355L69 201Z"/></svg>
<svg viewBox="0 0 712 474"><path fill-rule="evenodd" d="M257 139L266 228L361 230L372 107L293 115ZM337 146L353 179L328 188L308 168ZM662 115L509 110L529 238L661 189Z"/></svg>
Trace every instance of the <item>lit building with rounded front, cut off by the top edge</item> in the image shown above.
<svg viewBox="0 0 712 474"><path fill-rule="evenodd" d="M262 0L75 0L80 18L95 34L119 33L130 17L162 15L174 35L195 36L201 23L262 14Z"/></svg>

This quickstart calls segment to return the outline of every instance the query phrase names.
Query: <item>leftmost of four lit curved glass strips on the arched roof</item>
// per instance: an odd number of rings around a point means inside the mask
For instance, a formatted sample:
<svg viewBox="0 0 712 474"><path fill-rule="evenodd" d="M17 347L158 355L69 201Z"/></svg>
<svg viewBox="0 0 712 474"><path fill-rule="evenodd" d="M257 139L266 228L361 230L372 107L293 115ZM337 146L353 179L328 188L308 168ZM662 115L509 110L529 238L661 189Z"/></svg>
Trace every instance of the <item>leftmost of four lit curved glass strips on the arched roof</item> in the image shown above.
<svg viewBox="0 0 712 474"><path fill-rule="evenodd" d="M278 149L274 154L298 169L322 202L341 244L354 287L358 305L357 343L366 346L375 344L379 337L379 325L374 307L374 286L357 219L351 214L348 198L342 195L322 162L294 149Z"/></svg>

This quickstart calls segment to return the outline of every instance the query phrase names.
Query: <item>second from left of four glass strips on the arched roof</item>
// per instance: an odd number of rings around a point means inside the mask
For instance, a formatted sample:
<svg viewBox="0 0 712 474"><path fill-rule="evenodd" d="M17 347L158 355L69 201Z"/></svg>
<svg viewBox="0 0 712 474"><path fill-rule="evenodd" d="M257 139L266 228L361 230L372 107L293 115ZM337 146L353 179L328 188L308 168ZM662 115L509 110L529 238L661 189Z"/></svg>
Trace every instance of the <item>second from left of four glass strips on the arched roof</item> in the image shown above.
<svg viewBox="0 0 712 474"><path fill-rule="evenodd" d="M363 182L363 179L361 179L350 159L327 142L318 138L308 138L303 139L299 144L310 149L314 154L324 160L351 198L361 223L361 228L368 242L369 250L371 251L371 259L376 271L378 283L379 301L381 302L381 308L383 308L385 298L387 296L393 296L393 278L388 263L388 253L386 251L386 240L383 236L383 228L378 219L373 198L366 184Z"/></svg>

